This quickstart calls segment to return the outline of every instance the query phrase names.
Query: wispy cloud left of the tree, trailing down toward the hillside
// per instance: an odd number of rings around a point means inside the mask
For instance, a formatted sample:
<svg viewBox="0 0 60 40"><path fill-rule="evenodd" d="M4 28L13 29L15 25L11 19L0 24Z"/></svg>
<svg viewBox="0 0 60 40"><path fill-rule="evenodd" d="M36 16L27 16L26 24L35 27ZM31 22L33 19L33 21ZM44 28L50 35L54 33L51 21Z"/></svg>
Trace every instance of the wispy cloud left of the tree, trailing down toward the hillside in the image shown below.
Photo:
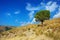
<svg viewBox="0 0 60 40"><path fill-rule="evenodd" d="M36 10L40 10L40 6L34 7L30 3L27 3L26 10L29 11L28 15L30 20L32 19L31 22L27 22L27 23L33 24L35 22L34 13Z"/></svg>

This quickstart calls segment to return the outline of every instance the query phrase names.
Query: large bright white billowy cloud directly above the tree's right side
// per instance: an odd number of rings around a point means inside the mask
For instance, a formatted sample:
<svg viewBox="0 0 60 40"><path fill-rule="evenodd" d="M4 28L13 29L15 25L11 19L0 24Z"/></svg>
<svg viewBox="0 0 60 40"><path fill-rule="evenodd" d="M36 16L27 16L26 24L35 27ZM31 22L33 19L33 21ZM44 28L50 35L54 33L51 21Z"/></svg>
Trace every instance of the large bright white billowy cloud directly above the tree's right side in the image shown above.
<svg viewBox="0 0 60 40"><path fill-rule="evenodd" d="M45 7L46 10L50 10L50 12L55 11L56 8L58 7L57 2L52 2L52 1L49 1L48 3L41 2L40 5L42 7ZM41 6L40 6L40 8L41 8Z"/></svg>

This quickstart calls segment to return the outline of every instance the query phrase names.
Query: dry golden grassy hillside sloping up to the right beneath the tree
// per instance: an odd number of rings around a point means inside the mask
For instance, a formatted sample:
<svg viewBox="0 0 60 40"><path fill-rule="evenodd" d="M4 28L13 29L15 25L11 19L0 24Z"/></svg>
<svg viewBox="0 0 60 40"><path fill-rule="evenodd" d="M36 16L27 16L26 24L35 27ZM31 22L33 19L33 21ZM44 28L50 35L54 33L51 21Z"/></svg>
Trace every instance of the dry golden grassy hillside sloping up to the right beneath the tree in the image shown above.
<svg viewBox="0 0 60 40"><path fill-rule="evenodd" d="M0 33L0 40L60 40L60 18L29 24Z"/></svg>

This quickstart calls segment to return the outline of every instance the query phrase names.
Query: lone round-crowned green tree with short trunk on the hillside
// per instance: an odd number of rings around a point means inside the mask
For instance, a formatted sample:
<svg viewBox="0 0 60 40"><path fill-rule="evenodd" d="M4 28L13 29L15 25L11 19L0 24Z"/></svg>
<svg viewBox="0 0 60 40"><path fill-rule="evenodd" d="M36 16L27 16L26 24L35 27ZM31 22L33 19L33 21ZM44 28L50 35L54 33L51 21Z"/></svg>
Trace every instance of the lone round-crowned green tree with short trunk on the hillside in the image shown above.
<svg viewBox="0 0 60 40"><path fill-rule="evenodd" d="M50 18L50 11L49 10L38 11L35 15L36 22L41 21L42 26L43 26L44 20L48 20L49 18Z"/></svg>

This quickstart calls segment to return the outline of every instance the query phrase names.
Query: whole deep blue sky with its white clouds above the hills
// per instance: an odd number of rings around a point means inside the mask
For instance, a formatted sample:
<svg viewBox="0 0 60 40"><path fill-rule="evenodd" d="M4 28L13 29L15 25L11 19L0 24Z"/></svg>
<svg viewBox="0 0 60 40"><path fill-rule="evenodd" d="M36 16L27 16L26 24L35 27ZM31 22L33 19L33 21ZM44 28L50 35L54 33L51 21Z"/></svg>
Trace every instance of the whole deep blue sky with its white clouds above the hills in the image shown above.
<svg viewBox="0 0 60 40"><path fill-rule="evenodd" d="M50 19L60 18L60 0L0 0L0 25L33 24L39 10L50 10Z"/></svg>

